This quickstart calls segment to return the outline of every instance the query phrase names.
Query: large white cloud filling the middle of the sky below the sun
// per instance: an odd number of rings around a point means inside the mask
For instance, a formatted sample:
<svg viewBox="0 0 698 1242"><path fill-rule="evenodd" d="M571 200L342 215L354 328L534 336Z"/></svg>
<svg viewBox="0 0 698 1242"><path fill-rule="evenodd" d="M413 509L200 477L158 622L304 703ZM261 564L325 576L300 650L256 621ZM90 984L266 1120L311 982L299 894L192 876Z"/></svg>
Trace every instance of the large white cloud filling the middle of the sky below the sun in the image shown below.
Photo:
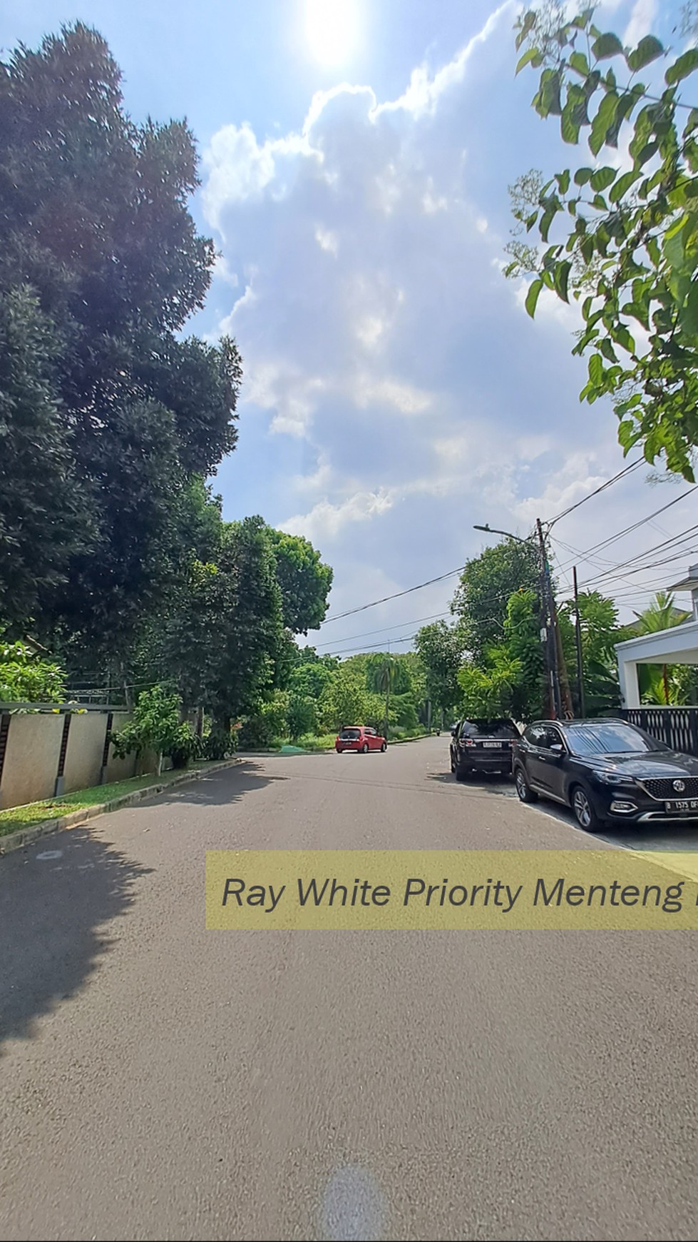
<svg viewBox="0 0 698 1242"><path fill-rule="evenodd" d="M399 589L462 564L475 523L524 533L622 462L610 409L578 401L578 304L543 294L532 322L524 284L501 276L507 180L544 128L506 93L512 11L392 101L337 84L299 132L226 125L207 153L203 209L243 288L221 322L245 373L231 503L320 546L334 611L373 579ZM258 462L239 498L247 436Z"/></svg>

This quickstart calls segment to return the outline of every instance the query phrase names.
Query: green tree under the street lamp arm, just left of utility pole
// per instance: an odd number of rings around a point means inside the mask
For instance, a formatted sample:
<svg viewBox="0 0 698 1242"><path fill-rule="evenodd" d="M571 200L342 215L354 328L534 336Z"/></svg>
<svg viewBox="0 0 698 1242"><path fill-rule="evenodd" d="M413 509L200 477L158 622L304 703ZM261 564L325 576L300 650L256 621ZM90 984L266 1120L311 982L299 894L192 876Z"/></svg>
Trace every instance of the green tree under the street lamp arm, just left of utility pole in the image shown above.
<svg viewBox="0 0 698 1242"><path fill-rule="evenodd" d="M515 591L536 591L538 550L533 540L502 539L467 561L451 611L459 619L462 646L481 662L490 647L505 641L507 601Z"/></svg>

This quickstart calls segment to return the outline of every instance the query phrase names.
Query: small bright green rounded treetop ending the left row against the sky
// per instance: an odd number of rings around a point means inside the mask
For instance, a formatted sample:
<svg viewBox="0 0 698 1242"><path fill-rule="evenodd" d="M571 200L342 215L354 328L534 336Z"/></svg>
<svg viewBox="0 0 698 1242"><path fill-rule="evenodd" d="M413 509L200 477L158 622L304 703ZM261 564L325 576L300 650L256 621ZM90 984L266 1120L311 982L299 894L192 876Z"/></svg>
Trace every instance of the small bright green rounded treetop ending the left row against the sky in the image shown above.
<svg viewBox="0 0 698 1242"><path fill-rule="evenodd" d="M322 564L320 553L301 535L270 530L270 538L281 587L284 625L293 633L306 635L309 630L317 630L325 620L332 570Z"/></svg>

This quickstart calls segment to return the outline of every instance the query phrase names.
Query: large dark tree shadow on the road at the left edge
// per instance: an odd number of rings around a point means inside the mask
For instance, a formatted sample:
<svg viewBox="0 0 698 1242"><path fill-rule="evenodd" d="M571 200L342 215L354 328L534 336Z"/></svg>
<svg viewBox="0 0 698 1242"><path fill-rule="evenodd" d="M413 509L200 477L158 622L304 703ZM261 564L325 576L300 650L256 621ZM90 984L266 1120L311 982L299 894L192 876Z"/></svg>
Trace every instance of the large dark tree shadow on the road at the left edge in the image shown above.
<svg viewBox="0 0 698 1242"><path fill-rule="evenodd" d="M84 986L112 944L100 927L128 912L150 869L87 828L2 859L0 1042L31 1038L35 1018Z"/></svg>

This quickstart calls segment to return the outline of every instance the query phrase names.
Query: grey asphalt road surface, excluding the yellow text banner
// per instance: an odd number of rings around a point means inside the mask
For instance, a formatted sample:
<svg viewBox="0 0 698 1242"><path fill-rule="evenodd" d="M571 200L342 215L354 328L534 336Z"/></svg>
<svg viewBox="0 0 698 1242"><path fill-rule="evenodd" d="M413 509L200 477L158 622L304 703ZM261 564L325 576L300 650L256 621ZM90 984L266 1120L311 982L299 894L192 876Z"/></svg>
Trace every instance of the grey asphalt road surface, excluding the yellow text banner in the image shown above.
<svg viewBox="0 0 698 1242"><path fill-rule="evenodd" d="M448 738L0 859L2 1238L694 1238L692 933L206 932L206 848L579 848ZM676 843L676 842L674 842Z"/></svg>

